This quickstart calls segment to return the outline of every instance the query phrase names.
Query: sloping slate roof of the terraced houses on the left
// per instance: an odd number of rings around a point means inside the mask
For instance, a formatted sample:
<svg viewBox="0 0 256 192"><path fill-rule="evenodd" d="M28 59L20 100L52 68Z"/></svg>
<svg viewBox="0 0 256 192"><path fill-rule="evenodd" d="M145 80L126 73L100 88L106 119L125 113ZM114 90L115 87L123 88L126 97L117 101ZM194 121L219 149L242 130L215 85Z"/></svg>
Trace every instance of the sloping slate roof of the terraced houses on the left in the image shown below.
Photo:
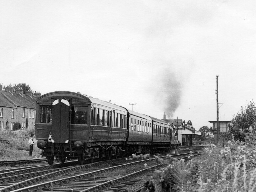
<svg viewBox="0 0 256 192"><path fill-rule="evenodd" d="M30 97L19 93L12 93L9 91L2 91L0 94L0 106L3 107L26 107L36 109L36 97Z"/></svg>

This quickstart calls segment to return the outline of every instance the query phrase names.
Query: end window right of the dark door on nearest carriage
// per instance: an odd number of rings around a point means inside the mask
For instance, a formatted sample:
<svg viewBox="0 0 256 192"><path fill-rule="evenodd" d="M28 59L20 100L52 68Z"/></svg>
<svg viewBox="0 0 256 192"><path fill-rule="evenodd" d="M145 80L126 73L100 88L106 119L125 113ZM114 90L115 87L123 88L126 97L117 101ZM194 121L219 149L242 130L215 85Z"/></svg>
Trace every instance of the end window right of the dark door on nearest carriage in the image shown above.
<svg viewBox="0 0 256 192"><path fill-rule="evenodd" d="M87 124L87 107L72 106L71 124Z"/></svg>

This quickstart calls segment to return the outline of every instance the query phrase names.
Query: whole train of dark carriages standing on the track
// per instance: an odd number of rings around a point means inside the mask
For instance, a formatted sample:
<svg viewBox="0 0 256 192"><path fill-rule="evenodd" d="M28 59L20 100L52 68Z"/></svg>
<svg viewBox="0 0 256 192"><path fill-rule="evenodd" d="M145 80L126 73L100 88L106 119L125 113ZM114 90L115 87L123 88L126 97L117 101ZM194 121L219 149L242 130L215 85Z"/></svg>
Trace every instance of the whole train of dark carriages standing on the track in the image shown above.
<svg viewBox="0 0 256 192"><path fill-rule="evenodd" d="M95 158L170 151L178 148L177 131L161 119L69 91L37 99L37 146L52 164L54 156L79 164Z"/></svg>

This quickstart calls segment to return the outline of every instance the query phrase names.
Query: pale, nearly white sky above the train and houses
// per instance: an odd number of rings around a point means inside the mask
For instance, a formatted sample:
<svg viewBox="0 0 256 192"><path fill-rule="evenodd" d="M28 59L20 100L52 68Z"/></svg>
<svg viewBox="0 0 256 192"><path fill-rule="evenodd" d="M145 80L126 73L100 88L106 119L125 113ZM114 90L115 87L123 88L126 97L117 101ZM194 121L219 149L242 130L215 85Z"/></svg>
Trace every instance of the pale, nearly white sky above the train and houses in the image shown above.
<svg viewBox="0 0 256 192"><path fill-rule="evenodd" d="M256 1L0 1L0 83L80 91L197 130L256 95ZM173 116L173 117L171 117Z"/></svg>

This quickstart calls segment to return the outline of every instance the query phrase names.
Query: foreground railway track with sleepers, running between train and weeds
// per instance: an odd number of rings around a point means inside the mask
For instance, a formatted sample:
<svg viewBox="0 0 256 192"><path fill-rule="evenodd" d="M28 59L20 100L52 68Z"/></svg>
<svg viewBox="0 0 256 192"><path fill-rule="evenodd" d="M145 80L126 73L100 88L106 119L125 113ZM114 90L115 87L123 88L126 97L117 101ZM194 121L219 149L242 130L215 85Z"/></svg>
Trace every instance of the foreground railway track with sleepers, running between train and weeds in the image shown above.
<svg viewBox="0 0 256 192"><path fill-rule="evenodd" d="M200 153L202 152L203 151ZM193 153L198 154L198 152ZM191 155L191 153L171 156L178 159L184 158L186 155ZM41 173L38 173L39 176L33 175L34 178L28 177L28 175L31 174L27 174L26 176L22 174L15 175L12 176L8 182L6 179L10 176L7 176L5 180L1 180L0 182L0 191L99 191L104 189L105 191L111 192L126 185L133 185L134 182L139 181L139 178L137 180L133 179L134 175L143 174L143 172L161 166L161 164L155 160L156 158L152 158L121 163L121 160L117 159L111 160L112 163L121 165L109 167L108 163L110 161L104 161L89 165L62 167L58 168L58 170L50 169L48 171L37 171ZM145 169L142 166L144 164L147 165ZM98 167L95 167L97 165ZM90 169L90 171L88 169ZM117 170L119 173L124 172L125 174L117 175ZM138 171L134 172L134 170ZM36 173L33 172L33 174ZM23 181L21 181L22 178Z"/></svg>

